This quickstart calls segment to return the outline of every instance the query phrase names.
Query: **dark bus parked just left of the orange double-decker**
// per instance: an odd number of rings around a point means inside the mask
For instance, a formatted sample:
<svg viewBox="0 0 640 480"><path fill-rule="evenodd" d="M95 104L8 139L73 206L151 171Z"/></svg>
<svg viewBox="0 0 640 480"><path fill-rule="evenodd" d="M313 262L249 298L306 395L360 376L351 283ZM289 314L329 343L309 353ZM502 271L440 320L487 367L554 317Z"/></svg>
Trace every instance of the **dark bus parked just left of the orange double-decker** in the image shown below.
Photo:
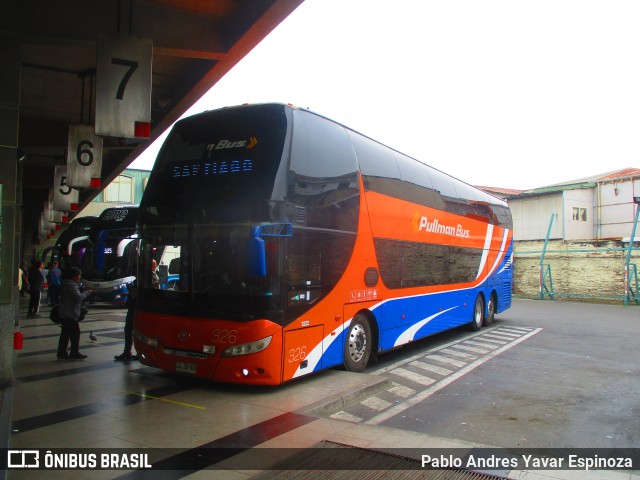
<svg viewBox="0 0 640 480"><path fill-rule="evenodd" d="M125 305L127 285L135 280L137 225L137 205L106 208L92 223L90 254L80 265L92 302Z"/></svg>

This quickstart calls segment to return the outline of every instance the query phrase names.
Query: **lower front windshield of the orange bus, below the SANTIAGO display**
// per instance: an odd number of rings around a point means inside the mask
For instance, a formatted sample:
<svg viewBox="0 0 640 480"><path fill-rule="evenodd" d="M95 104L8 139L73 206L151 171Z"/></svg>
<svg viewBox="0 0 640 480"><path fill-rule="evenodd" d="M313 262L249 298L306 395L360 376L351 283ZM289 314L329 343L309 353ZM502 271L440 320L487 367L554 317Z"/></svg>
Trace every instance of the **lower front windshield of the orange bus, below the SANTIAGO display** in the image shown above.
<svg viewBox="0 0 640 480"><path fill-rule="evenodd" d="M190 236L186 232L191 232ZM246 225L153 228L143 241L143 264L158 264L160 289L142 275L147 311L229 320L282 322L278 237L264 241L266 272L256 271ZM263 275L262 273L266 273ZM146 288L144 288L146 287Z"/></svg>

